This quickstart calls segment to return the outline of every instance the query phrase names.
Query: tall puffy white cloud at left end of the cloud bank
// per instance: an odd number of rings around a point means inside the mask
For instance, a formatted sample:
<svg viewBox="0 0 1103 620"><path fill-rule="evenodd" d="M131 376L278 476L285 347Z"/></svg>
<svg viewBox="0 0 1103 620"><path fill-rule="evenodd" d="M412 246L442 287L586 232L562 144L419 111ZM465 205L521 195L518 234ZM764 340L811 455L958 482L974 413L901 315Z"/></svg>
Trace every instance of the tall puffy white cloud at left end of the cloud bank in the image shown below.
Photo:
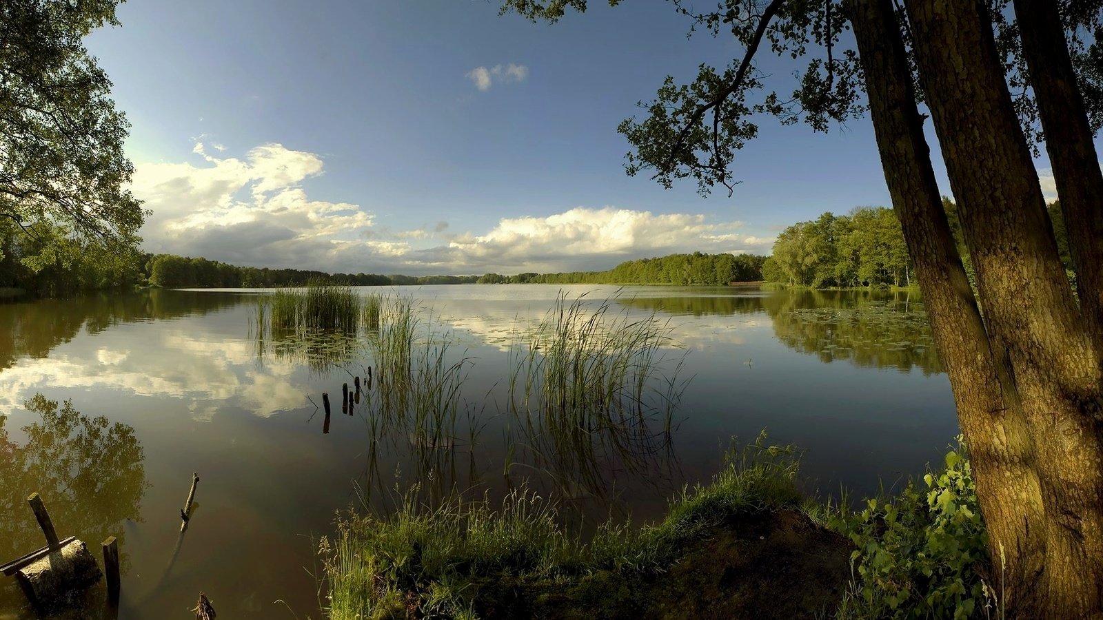
<svg viewBox="0 0 1103 620"><path fill-rule="evenodd" d="M192 163L139 163L131 190L153 214L144 246L242 265L322 267L342 242L363 236L373 215L350 203L311 200L300 183L322 173L313 153L263 145L244 159L212 156L197 142Z"/></svg>

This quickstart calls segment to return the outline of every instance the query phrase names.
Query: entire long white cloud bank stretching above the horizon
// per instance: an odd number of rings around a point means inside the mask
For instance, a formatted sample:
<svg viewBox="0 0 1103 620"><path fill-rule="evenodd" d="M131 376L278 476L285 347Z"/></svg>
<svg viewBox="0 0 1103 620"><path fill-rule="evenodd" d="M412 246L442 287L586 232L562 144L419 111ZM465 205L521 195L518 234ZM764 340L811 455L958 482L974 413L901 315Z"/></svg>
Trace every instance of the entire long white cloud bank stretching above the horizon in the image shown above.
<svg viewBox="0 0 1103 620"><path fill-rule="evenodd" d="M704 214L576 206L547 216L502 217L490 231L461 222L389 231L360 204L313 200L302 184L322 158L268 143L244 158L203 142L201 162L137 163L131 190L152 215L142 227L152 253L234 265L373 274L516 274L600 270L673 253L764 254L772 237Z"/></svg>

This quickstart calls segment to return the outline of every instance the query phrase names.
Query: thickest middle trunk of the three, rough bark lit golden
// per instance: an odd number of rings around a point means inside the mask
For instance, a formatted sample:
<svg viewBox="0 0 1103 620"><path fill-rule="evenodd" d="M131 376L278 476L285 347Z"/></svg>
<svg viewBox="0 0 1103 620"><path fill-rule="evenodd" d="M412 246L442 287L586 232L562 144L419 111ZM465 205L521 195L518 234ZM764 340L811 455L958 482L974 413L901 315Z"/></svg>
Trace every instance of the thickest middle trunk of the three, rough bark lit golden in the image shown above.
<svg viewBox="0 0 1103 620"><path fill-rule="evenodd" d="M931 118L1013 372L1045 507L1043 617L1103 614L1103 377L1072 298L984 2L907 0ZM997 365L998 365L997 364Z"/></svg>

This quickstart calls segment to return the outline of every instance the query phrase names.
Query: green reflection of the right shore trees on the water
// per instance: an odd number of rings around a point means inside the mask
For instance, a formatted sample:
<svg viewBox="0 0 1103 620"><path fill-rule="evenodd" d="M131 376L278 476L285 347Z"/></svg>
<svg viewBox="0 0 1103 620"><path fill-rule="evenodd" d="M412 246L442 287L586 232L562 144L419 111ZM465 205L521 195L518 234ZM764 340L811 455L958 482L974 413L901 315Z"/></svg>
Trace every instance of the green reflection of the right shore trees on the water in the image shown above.
<svg viewBox="0 0 1103 620"><path fill-rule="evenodd" d="M927 312L909 291L783 290L738 297L622 299L672 314L751 314L764 311L786 346L823 362L941 373Z"/></svg>

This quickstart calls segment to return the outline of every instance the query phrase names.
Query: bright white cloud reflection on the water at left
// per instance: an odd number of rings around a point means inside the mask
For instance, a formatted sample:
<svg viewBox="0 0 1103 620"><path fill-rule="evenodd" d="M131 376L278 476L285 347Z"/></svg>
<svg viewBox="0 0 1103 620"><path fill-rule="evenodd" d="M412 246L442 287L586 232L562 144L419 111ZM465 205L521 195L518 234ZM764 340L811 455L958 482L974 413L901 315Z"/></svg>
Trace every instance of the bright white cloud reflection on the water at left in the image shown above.
<svg viewBox="0 0 1103 620"><path fill-rule="evenodd" d="M267 417L306 402L304 387L292 381L296 364L266 359L260 365L251 341L193 333L144 323L81 334L50 359L23 359L0 372L0 413L49 386L176 398L196 420L212 419L225 404Z"/></svg>

